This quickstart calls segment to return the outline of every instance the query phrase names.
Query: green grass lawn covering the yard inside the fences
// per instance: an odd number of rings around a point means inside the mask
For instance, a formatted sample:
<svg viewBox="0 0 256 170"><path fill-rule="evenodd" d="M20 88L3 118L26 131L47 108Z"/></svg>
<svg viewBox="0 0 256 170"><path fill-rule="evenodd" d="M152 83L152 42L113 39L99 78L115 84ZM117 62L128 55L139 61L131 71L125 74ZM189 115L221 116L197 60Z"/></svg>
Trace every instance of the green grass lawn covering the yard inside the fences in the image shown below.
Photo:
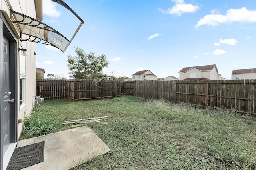
<svg viewBox="0 0 256 170"><path fill-rule="evenodd" d="M109 116L107 125L88 126L111 151L74 169L256 170L256 118L126 95L39 107L24 123L45 123L46 133L70 129L67 120ZM45 133L34 129L20 139L38 134Z"/></svg>

